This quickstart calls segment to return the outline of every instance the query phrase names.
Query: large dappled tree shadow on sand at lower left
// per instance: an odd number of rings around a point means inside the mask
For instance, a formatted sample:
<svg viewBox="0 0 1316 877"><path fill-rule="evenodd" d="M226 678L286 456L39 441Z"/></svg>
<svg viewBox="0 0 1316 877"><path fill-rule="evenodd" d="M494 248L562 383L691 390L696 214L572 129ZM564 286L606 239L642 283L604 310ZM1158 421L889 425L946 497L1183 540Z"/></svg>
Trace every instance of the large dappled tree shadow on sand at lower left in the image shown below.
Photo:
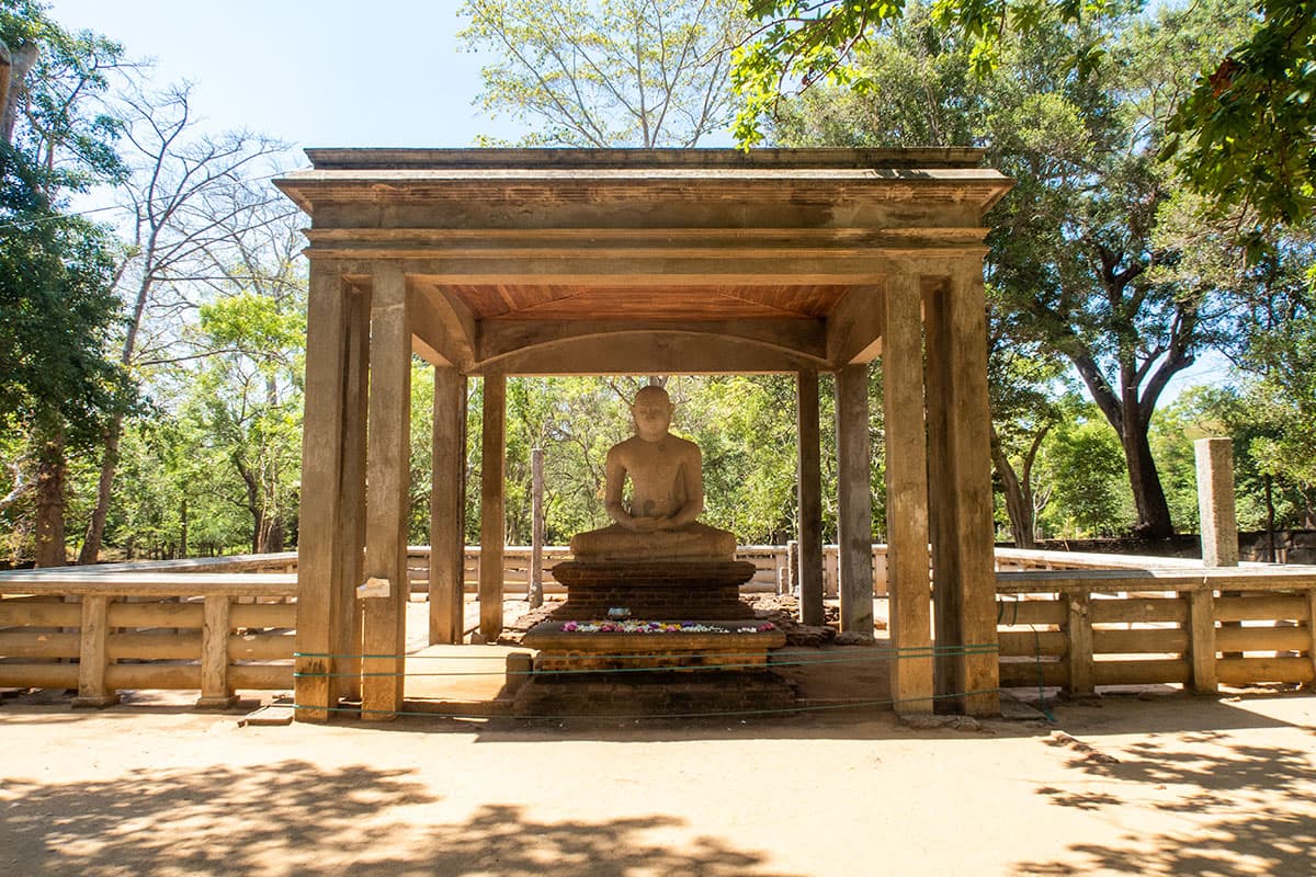
<svg viewBox="0 0 1316 877"><path fill-rule="evenodd" d="M0 786L11 874L767 874L762 855L647 832L671 817L536 822L486 805L457 824L416 819L441 798L405 772L299 760L263 768L139 769L113 781ZM420 811L424 813L424 811Z"/></svg>

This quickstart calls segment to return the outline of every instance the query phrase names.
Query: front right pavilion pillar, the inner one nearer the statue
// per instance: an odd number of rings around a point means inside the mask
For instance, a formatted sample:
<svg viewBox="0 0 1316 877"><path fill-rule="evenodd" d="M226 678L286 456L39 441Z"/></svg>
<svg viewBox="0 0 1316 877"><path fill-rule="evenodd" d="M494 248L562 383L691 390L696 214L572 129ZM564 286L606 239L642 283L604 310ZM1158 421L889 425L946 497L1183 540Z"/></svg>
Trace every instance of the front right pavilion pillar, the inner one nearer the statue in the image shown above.
<svg viewBox="0 0 1316 877"><path fill-rule="evenodd" d="M928 433L924 426L919 277L887 281L882 337L887 442L887 592L891 698L901 715L932 713L932 594L928 579Z"/></svg>

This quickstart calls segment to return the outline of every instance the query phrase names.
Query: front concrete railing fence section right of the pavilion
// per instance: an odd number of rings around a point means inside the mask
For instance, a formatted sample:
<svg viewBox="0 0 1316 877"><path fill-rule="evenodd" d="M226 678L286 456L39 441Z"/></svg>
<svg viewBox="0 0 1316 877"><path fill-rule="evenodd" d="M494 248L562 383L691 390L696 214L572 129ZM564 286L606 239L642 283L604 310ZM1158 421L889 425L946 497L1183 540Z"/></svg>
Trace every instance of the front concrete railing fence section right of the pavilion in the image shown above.
<svg viewBox="0 0 1316 877"><path fill-rule="evenodd" d="M996 576L1001 686L1316 680L1316 568Z"/></svg>

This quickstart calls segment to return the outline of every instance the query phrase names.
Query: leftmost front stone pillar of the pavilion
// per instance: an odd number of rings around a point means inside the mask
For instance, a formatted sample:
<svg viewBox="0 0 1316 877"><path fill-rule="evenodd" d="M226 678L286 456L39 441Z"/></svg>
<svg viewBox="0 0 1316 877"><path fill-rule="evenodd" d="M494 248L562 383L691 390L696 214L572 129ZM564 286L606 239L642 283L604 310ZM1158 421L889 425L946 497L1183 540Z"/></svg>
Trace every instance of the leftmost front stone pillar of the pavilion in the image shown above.
<svg viewBox="0 0 1316 877"><path fill-rule="evenodd" d="M337 552L342 477L343 369L347 309L338 266L311 260L307 298L305 417L301 426L301 515L297 525L296 718L325 722L338 706L336 676L342 618Z"/></svg>

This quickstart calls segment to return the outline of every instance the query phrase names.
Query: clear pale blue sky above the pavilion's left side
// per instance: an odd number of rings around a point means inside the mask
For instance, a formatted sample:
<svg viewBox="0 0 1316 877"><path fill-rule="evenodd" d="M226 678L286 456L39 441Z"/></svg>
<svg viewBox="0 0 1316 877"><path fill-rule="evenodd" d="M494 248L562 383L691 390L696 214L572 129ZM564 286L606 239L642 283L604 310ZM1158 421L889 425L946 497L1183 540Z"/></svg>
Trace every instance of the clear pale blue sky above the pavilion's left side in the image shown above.
<svg viewBox="0 0 1316 877"><path fill-rule="evenodd" d="M470 146L520 129L472 105L480 57L459 50L458 0L53 0L50 16L196 84L216 130L307 146Z"/></svg>

